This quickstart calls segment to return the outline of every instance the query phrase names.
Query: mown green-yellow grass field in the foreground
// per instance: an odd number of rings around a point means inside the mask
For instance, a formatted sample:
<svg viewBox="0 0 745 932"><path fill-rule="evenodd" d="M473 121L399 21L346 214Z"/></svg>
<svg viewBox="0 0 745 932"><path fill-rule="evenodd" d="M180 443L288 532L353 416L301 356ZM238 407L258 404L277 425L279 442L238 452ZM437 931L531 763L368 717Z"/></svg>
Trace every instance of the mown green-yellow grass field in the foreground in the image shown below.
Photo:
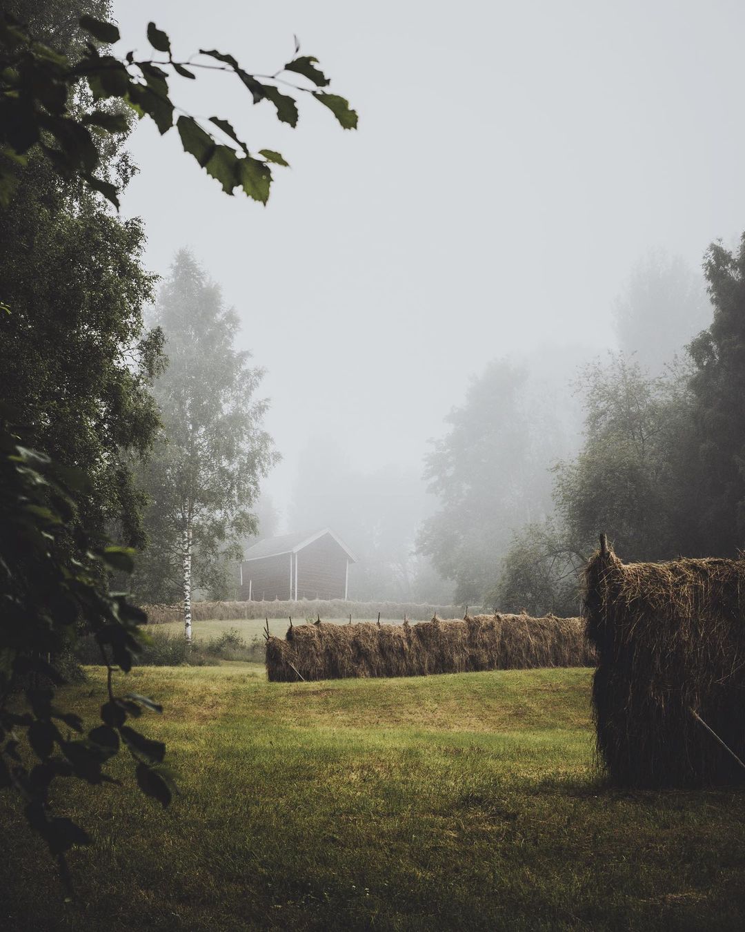
<svg viewBox="0 0 745 932"><path fill-rule="evenodd" d="M182 795L162 812L76 791L96 837L71 857L76 904L4 795L0 927L742 928L745 795L603 787L589 680L136 668L129 689L166 706L146 728ZM95 671L68 700L93 712L102 696Z"/></svg>

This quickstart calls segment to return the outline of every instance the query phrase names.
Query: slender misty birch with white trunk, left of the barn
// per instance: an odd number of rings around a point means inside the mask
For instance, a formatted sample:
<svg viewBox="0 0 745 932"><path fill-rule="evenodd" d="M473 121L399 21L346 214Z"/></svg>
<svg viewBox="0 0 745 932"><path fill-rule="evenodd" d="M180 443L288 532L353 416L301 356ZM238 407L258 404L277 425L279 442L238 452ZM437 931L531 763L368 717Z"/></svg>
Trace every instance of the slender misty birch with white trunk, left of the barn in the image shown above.
<svg viewBox="0 0 745 932"><path fill-rule="evenodd" d="M240 556L240 539L257 531L252 507L278 458L262 428L267 403L255 397L264 370L236 349L236 312L185 250L156 324L169 364L154 388L164 430L143 475L152 504L136 588L156 601L178 593L190 642L192 590L210 588L225 558Z"/></svg>

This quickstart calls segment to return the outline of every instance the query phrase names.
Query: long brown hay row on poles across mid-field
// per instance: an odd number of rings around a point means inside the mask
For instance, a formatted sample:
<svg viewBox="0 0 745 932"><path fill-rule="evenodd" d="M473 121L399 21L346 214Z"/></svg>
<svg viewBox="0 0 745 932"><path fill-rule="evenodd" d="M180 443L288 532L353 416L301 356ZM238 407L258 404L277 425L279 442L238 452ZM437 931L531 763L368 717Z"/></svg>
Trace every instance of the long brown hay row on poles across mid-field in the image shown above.
<svg viewBox="0 0 745 932"><path fill-rule="evenodd" d="M347 677L419 677L593 663L578 618L478 615L420 624L301 624L266 642L266 672L278 682Z"/></svg>

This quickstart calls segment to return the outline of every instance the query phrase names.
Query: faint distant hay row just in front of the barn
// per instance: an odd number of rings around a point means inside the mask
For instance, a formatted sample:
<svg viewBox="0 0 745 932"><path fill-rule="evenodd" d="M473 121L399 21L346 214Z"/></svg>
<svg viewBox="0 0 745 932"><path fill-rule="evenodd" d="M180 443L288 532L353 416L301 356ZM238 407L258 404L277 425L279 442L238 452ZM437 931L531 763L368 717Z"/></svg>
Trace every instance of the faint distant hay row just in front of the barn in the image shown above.
<svg viewBox="0 0 745 932"><path fill-rule="evenodd" d="M182 605L143 605L147 612L149 624L167 624L183 622ZM454 605L424 605L417 602L354 602L343 598L302 598L297 601L265 602L192 602L192 619L195 622L232 622L251 618L292 617L304 621L305 618L374 618L378 612L383 618L404 617L416 621L440 615L448 618L463 611L463 607Z"/></svg>

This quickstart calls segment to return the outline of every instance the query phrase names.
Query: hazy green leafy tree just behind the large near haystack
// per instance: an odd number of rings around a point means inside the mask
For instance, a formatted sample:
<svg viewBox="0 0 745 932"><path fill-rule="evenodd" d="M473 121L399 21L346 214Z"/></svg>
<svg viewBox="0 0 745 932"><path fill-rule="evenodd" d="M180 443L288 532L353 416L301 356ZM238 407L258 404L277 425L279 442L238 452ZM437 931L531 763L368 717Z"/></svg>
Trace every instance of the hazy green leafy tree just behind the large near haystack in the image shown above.
<svg viewBox="0 0 745 932"><path fill-rule="evenodd" d="M503 608L576 611L582 569L607 533L629 560L698 555L691 370L650 376L623 354L577 382L585 440L555 469L556 512L519 531L491 597Z"/></svg>

